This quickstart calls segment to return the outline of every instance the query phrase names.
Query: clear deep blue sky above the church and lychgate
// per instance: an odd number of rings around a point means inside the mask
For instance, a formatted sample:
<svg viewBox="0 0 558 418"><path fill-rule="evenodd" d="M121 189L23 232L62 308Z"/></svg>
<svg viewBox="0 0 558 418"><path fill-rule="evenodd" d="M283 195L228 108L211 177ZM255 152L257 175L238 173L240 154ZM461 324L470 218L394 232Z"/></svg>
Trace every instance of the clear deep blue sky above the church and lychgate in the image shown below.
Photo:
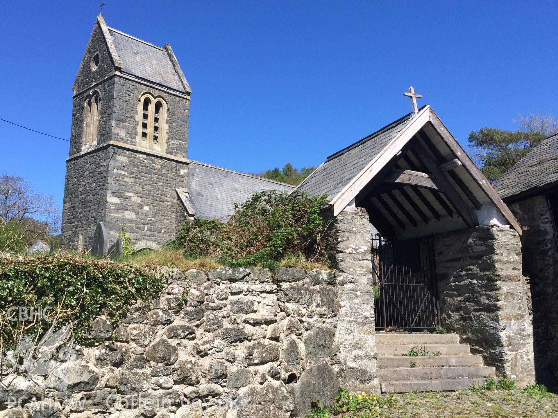
<svg viewBox="0 0 558 418"><path fill-rule="evenodd" d="M100 0L2 2L0 118L70 137ZM411 110L461 144L558 114L556 2L114 1L109 26L170 43L193 90L189 157L246 172L319 164ZM67 142L0 121L0 172L62 202Z"/></svg>

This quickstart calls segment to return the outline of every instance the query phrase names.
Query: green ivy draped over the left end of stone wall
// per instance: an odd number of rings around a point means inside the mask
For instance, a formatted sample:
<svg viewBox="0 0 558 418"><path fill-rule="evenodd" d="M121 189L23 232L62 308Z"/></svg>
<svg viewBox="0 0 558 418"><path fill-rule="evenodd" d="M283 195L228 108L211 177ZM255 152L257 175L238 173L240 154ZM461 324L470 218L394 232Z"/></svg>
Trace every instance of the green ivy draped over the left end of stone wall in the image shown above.
<svg viewBox="0 0 558 418"><path fill-rule="evenodd" d="M156 274L109 260L64 253L0 258L0 344L4 349L14 346L22 330L40 339L53 319L60 327L75 322L73 335L83 341L84 331L99 315L116 323L136 300L159 295L162 285ZM6 313L15 307L54 309L49 320L33 322L10 320Z"/></svg>

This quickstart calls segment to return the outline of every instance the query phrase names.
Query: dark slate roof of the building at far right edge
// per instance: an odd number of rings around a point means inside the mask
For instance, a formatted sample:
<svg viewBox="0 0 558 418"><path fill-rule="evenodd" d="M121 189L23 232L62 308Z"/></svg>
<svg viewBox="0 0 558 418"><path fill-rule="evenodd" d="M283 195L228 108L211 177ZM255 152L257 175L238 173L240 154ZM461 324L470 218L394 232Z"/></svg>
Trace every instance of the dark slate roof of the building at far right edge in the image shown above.
<svg viewBox="0 0 558 418"><path fill-rule="evenodd" d="M492 187L504 200L544 190L558 182L558 134L543 140L502 174Z"/></svg>

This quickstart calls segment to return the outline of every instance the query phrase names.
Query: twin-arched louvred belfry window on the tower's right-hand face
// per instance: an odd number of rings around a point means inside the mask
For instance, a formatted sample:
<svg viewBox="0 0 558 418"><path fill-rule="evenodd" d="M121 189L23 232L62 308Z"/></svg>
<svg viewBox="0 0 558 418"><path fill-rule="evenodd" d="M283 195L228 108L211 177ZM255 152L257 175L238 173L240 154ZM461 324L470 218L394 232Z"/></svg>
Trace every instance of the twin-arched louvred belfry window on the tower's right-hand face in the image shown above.
<svg viewBox="0 0 558 418"><path fill-rule="evenodd" d="M139 144L164 152L167 104L162 98L145 94L140 99Z"/></svg>

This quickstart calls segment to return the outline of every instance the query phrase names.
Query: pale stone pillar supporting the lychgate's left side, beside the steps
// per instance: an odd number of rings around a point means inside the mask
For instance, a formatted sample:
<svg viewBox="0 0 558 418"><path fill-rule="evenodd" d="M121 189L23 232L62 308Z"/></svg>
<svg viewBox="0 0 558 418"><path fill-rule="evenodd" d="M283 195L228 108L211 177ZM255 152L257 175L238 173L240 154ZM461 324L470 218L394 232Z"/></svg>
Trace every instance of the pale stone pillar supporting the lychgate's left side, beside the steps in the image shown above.
<svg viewBox="0 0 558 418"><path fill-rule="evenodd" d="M339 315L335 339L341 386L355 392L378 391L368 214L361 208L343 211L330 227L336 242Z"/></svg>

